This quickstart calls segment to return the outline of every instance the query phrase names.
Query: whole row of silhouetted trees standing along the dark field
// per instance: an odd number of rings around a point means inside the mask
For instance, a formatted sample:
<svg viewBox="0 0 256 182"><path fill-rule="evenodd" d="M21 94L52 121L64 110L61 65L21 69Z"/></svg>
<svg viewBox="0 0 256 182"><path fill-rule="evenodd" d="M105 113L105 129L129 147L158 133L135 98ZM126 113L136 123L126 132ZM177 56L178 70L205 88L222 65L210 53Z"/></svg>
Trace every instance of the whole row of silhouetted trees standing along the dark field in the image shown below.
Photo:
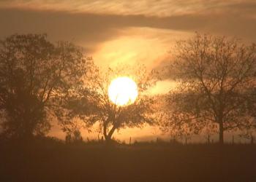
<svg viewBox="0 0 256 182"><path fill-rule="evenodd" d="M44 34L12 35L0 41L0 124L3 138L45 135L58 119L67 139L80 140L77 121L97 124L105 141L125 127L157 125L173 139L193 134L256 128L256 45L200 35L177 41L165 71L120 65L100 70L83 48L52 43ZM118 76L138 84L138 99L116 106L108 86ZM166 95L146 94L162 78L176 82ZM74 135L75 134L75 135Z"/></svg>

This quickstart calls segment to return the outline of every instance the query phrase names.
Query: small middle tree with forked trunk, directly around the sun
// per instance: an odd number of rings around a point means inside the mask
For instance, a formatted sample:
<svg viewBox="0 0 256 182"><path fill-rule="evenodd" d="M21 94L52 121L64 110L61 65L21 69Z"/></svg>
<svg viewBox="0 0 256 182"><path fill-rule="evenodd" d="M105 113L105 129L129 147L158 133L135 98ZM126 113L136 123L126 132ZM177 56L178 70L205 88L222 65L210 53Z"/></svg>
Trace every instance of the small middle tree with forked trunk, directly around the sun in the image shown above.
<svg viewBox="0 0 256 182"><path fill-rule="evenodd" d="M153 71L154 72L154 71ZM113 133L120 128L141 127L143 124L153 123L153 104L151 96L143 94L148 87L154 84L153 72L148 74L144 66L137 68L118 66L116 70L111 68L105 74L98 74L93 80L90 95L82 94L73 108L73 116L79 116L87 128L99 124L99 130L105 137L105 141L112 141ZM129 76L138 84L138 98L134 103L125 106L117 106L110 101L108 86L118 76ZM86 91L87 92L87 91ZM90 106L89 109L87 107ZM88 112L89 111L89 112Z"/></svg>

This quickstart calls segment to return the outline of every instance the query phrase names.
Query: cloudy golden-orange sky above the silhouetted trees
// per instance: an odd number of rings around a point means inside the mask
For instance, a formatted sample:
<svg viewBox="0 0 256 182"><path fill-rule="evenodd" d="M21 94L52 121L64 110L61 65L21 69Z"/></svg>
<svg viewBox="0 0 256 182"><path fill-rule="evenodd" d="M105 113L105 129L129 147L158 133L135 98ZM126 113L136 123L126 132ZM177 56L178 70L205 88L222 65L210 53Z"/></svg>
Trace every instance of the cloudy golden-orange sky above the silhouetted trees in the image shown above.
<svg viewBox="0 0 256 182"><path fill-rule="evenodd" d="M162 68L170 61L175 41L195 31L256 42L256 1L0 1L0 39L14 33L47 33L51 41L84 47L102 68L117 63ZM165 93L170 87L172 82L162 80L151 90ZM136 129L136 136L151 132Z"/></svg>

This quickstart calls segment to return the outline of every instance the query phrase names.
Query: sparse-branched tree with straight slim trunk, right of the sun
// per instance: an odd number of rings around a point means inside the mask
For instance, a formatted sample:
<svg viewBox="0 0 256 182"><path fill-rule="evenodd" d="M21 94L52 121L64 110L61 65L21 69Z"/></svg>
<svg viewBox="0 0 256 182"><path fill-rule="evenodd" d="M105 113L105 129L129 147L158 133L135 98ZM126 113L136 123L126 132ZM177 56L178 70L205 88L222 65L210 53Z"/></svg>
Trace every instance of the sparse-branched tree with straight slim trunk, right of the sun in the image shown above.
<svg viewBox="0 0 256 182"><path fill-rule="evenodd" d="M219 143L225 131L252 127L247 103L255 87L255 44L197 33L178 41L176 51L169 68L177 87L168 102L180 124L198 130L217 127Z"/></svg>

